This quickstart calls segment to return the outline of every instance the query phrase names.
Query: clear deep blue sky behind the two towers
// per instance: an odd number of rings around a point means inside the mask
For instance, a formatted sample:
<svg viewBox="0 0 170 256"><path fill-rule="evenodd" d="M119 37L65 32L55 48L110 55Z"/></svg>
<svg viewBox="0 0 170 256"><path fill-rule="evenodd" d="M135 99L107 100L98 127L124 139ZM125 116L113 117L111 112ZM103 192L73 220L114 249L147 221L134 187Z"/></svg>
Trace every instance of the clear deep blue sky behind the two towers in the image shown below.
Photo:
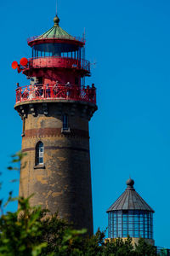
<svg viewBox="0 0 170 256"><path fill-rule="evenodd" d="M130 175L156 211L154 238L162 247L170 247L169 10L165 0L59 0L60 26L76 36L85 27L87 59L97 62L87 79L98 88L99 106L90 122L94 230L105 230L105 211ZM9 183L18 175L6 166L21 145L15 84L28 84L11 62L31 56L26 38L47 31L54 15L55 0L0 2L1 197L18 193L18 183Z"/></svg>

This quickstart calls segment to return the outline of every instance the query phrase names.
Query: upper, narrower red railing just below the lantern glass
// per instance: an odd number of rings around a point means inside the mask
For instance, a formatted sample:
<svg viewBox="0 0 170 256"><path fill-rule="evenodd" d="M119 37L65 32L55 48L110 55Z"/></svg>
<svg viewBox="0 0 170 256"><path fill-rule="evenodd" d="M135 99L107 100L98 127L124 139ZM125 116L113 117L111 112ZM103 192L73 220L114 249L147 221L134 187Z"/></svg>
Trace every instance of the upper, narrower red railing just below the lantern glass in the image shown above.
<svg viewBox="0 0 170 256"><path fill-rule="evenodd" d="M31 58L28 62L29 68L40 68L40 67L61 67L61 68L75 68L82 69L90 73L90 62L86 60L77 60L67 57L37 57Z"/></svg>

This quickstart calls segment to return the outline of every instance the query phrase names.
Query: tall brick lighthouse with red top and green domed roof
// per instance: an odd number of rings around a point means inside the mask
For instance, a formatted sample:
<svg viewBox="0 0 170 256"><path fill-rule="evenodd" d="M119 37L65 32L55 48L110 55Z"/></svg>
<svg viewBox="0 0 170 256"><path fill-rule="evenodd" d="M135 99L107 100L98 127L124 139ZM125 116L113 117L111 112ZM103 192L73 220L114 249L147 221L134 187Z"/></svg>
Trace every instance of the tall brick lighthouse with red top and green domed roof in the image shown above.
<svg viewBox="0 0 170 256"><path fill-rule="evenodd" d="M97 110L94 84L85 84L90 63L85 40L59 26L28 39L32 56L13 67L30 79L16 89L23 122L20 196L59 212L77 229L93 234L88 121ZM26 163L26 164L24 164Z"/></svg>

